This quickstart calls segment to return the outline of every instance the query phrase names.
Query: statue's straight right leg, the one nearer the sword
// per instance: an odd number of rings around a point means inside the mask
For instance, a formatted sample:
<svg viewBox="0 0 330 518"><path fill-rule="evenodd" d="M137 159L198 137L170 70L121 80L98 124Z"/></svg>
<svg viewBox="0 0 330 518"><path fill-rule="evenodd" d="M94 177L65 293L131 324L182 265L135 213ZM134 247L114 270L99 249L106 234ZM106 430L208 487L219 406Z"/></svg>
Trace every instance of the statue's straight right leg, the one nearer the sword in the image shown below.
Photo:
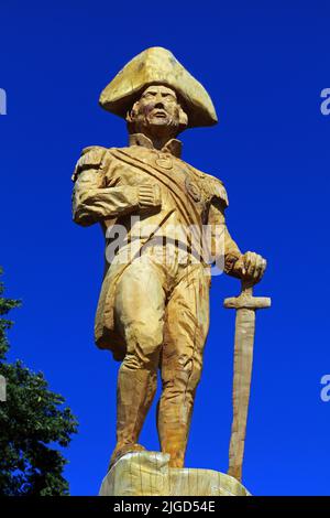
<svg viewBox="0 0 330 518"><path fill-rule="evenodd" d="M167 304L162 352L163 393L157 429L172 467L184 467L195 392L201 375L209 328L209 282L200 266L190 266Z"/></svg>

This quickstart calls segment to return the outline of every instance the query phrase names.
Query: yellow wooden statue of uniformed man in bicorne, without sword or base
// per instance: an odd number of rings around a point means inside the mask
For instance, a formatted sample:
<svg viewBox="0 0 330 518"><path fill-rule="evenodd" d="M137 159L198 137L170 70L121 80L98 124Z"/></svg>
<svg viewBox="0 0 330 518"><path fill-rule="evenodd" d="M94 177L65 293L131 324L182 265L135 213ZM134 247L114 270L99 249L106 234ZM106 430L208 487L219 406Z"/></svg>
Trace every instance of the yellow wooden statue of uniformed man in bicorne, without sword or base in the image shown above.
<svg viewBox="0 0 330 518"><path fill-rule="evenodd" d="M241 253L231 238L222 182L180 158L178 133L211 126L217 116L205 88L172 53L153 47L139 54L103 90L100 102L125 118L130 143L84 150L74 173L73 212L79 225L100 223L107 246L113 241L113 225L127 231L107 261L96 316L97 345L122 361L111 463L143 449L139 435L160 368L161 447L170 454L172 467L183 467L209 328L210 285L210 263L200 249L196 253L185 229L221 228L223 269L230 276L256 283L266 261ZM217 236L212 230L211 249ZM134 253L128 255L132 247ZM160 260L165 247L166 261Z"/></svg>

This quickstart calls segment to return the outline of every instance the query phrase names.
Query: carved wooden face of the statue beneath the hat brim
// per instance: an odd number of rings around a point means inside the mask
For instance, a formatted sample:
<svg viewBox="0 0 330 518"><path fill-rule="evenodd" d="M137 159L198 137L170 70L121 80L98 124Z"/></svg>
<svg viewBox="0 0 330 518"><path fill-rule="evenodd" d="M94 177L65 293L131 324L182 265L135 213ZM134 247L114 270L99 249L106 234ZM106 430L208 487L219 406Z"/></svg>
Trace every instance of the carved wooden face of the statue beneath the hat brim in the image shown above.
<svg viewBox="0 0 330 518"><path fill-rule="evenodd" d="M170 139L188 126L188 116L176 91L165 85L146 87L127 114L130 133Z"/></svg>

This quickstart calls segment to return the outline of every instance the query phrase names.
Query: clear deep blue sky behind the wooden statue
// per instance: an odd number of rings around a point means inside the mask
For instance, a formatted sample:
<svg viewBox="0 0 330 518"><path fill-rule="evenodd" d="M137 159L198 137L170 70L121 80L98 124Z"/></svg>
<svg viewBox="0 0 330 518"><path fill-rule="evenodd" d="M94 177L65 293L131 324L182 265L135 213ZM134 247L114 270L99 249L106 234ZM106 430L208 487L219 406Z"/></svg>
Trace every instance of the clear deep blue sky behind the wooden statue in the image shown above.
<svg viewBox="0 0 330 518"><path fill-rule="evenodd" d="M202 82L219 125L183 133L184 159L220 177L242 250L268 260L258 295L244 483L255 495L330 494L330 7L321 1L18 2L2 0L1 255L21 298L11 358L43 370L80 421L66 455L73 495L95 495L114 446L118 364L94 346L102 276L97 226L72 223L70 175L86 145L125 145L100 90L142 50L161 45ZM328 208L327 208L328 207ZM226 471L237 280L211 289L211 328L187 466ZM142 443L157 450L153 407Z"/></svg>

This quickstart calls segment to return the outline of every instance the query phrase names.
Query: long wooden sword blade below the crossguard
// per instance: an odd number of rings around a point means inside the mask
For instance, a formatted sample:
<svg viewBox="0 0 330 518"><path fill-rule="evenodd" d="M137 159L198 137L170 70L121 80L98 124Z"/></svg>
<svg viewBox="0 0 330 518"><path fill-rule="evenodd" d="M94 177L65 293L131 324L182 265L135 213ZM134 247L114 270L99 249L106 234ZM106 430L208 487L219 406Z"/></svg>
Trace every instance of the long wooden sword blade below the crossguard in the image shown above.
<svg viewBox="0 0 330 518"><path fill-rule="evenodd" d="M229 449L228 474L242 479L242 465L246 433L248 409L253 364L255 311L237 310L233 376L233 420Z"/></svg>

